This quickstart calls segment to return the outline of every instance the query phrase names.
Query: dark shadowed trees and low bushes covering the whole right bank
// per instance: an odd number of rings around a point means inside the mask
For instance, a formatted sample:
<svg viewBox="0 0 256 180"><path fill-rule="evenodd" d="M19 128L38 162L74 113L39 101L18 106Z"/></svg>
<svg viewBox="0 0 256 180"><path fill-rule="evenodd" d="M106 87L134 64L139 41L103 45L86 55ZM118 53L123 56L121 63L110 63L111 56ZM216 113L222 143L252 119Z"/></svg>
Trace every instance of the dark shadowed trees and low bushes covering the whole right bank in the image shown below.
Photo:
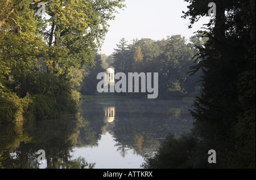
<svg viewBox="0 0 256 180"><path fill-rule="evenodd" d="M192 27L207 15L208 1L185 0ZM255 168L255 1L214 1L208 41L197 46L201 96L191 111L196 122L180 139L170 135L144 168ZM216 164L208 151L216 151Z"/></svg>

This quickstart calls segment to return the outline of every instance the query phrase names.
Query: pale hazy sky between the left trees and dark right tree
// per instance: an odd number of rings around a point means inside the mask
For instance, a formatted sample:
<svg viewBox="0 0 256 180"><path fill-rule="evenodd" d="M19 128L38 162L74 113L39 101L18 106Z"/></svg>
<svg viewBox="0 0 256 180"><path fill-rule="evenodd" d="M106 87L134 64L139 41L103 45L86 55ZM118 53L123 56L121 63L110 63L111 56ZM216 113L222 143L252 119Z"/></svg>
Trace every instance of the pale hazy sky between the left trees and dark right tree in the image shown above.
<svg viewBox="0 0 256 180"><path fill-rule="evenodd" d="M115 20L109 22L109 32L102 45L102 54L110 55L116 44L125 38L130 44L134 38L161 40L171 35L193 36L209 18L203 18L192 29L188 19L181 18L187 11L188 3L183 0L126 0L125 10L119 10Z"/></svg>

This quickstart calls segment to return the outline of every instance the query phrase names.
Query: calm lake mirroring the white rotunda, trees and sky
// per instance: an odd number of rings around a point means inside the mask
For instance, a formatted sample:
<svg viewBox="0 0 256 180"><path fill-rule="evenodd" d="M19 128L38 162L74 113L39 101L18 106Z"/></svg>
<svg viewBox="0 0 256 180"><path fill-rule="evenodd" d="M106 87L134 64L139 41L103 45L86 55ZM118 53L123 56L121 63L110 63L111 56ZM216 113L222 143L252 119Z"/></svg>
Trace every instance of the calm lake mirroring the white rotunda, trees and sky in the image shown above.
<svg viewBox="0 0 256 180"><path fill-rule="evenodd" d="M193 126L192 101L96 98L76 118L0 125L0 168L137 169ZM46 161L38 163L39 149Z"/></svg>

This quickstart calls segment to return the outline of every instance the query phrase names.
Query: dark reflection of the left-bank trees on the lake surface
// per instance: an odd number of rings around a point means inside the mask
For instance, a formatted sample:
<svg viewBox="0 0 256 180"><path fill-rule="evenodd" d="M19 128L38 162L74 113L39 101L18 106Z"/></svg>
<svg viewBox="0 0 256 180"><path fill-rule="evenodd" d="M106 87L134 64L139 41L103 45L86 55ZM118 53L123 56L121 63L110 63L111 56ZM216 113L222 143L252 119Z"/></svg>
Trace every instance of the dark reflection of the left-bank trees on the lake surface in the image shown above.
<svg viewBox="0 0 256 180"><path fill-rule="evenodd" d="M1 125L0 168L93 168L84 158L71 160L81 124L56 119ZM46 165L37 161L39 149L46 151Z"/></svg>

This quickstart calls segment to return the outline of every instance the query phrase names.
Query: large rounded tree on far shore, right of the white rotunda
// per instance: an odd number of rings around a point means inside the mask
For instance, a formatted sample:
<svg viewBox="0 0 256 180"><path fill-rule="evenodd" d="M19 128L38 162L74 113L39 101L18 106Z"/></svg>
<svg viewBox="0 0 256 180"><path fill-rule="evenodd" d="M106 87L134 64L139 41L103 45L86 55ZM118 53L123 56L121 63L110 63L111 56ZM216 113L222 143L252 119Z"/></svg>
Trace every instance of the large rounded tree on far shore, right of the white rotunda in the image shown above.
<svg viewBox="0 0 256 180"><path fill-rule="evenodd" d="M186 92L184 83L187 80L189 66L192 65L193 52L185 44L185 38L174 35L167 39L163 54L160 55L160 91L164 96L180 97Z"/></svg>

